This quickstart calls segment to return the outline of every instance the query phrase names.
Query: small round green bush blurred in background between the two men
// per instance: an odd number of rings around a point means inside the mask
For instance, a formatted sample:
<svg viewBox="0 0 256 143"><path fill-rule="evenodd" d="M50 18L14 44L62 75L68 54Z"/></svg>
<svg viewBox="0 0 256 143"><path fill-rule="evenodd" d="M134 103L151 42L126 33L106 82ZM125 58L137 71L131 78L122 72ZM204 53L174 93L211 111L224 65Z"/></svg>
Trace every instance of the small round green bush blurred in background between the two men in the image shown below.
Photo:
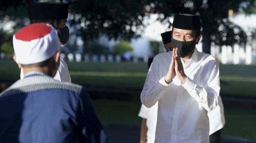
<svg viewBox="0 0 256 143"><path fill-rule="evenodd" d="M113 46L114 54L124 54L125 52L133 51L133 47L128 41L120 41Z"/></svg>

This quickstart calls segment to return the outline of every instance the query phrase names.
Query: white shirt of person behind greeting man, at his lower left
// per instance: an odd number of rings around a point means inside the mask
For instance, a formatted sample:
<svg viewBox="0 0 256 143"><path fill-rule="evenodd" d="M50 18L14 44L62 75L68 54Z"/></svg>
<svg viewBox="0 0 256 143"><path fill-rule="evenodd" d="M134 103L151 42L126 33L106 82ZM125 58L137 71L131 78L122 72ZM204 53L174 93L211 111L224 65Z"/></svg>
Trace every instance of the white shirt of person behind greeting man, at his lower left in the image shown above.
<svg viewBox="0 0 256 143"><path fill-rule="evenodd" d="M154 143L156 133L158 102L150 108L142 104L138 116L147 119L147 143Z"/></svg>

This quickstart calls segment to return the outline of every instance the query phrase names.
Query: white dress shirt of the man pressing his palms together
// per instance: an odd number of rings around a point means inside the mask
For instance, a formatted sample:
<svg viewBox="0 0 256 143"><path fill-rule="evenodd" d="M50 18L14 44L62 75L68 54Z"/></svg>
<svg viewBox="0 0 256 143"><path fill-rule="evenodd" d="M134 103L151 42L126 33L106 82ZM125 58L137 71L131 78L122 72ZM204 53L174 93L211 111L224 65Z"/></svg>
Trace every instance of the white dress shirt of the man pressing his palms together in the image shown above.
<svg viewBox="0 0 256 143"><path fill-rule="evenodd" d="M209 143L207 111L218 105L219 65L216 59L195 48L183 63L187 80L164 80L172 52L156 55L145 81L141 101L146 107L158 101L155 143Z"/></svg>

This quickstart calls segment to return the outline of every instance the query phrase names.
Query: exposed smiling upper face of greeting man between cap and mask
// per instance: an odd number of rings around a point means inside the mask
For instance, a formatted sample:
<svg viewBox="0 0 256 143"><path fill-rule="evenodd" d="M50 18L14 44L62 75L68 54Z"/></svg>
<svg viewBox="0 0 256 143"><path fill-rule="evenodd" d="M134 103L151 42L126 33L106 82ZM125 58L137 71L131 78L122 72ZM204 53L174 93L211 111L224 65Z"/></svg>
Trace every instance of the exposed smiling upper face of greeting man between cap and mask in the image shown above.
<svg viewBox="0 0 256 143"><path fill-rule="evenodd" d="M172 30L172 38L178 41L193 41L196 40L196 44L198 44L199 39L196 38L195 30L185 30L185 29L177 29L173 28Z"/></svg>

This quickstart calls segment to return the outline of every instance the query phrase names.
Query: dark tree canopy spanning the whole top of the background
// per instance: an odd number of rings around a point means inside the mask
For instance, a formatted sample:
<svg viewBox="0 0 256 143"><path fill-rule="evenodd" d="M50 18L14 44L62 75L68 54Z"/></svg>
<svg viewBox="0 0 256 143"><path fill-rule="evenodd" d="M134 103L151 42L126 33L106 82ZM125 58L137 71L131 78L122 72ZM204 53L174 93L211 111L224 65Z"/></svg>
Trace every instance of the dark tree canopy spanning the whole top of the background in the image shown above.
<svg viewBox="0 0 256 143"><path fill-rule="evenodd" d="M58 1L69 2L69 23L74 27L74 34L82 36L84 41L98 38L100 35L115 40L129 41L132 38L138 38L146 26L146 23L143 23L143 18L151 13L158 13L160 15L158 20L169 23L170 26L169 17L174 13L200 14L202 18L203 51L206 53L210 52L211 42L218 45L231 45L234 42L244 43L246 34L240 27L228 20L229 10L234 13L244 11L250 14L254 11L255 6L255 0ZM9 15L10 20L15 20L20 25L24 25L22 18L27 17L25 5L29 2L38 2L38 0L1 1L0 18ZM19 9L18 12L17 9ZM234 29L237 30L234 31Z"/></svg>

